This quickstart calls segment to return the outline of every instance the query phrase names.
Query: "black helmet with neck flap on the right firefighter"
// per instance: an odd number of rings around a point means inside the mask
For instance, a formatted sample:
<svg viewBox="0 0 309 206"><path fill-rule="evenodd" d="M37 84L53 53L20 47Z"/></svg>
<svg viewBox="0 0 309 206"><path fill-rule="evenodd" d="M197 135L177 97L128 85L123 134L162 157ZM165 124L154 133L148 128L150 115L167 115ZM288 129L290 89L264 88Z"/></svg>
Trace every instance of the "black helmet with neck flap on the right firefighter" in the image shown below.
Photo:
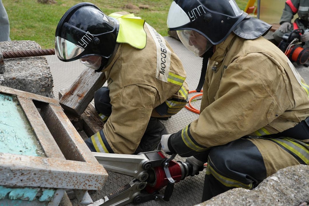
<svg viewBox="0 0 309 206"><path fill-rule="evenodd" d="M244 39L265 35L271 25L250 17L235 0L174 0L167 27L177 31L181 42L197 56L224 41L233 31ZM193 42L193 39L198 39Z"/></svg>

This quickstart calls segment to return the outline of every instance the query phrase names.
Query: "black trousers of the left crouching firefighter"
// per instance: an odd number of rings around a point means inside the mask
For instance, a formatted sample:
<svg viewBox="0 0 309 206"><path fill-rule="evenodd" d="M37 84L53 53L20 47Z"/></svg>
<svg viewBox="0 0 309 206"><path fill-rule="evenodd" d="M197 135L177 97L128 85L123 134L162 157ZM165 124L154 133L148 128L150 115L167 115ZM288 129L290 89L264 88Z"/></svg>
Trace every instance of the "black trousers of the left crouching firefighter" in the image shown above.
<svg viewBox="0 0 309 206"><path fill-rule="evenodd" d="M94 102L96 111L98 111L101 119L106 122L112 113L108 87L101 87L95 92ZM158 146L163 134L167 134L164 125L157 118L150 117L144 135L134 154L160 149ZM86 140L86 144L90 149L93 147L90 138ZM93 150L95 151L94 147Z"/></svg>

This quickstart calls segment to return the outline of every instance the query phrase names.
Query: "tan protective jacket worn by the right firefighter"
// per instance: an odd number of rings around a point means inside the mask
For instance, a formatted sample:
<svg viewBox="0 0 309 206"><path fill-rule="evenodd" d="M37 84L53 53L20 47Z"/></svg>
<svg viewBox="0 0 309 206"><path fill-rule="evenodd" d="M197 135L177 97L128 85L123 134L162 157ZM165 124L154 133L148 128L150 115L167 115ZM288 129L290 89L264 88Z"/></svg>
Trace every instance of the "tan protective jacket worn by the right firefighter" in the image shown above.
<svg viewBox="0 0 309 206"><path fill-rule="evenodd" d="M231 33L210 58L199 118L171 144L178 154L191 156L243 136L282 132L309 116L308 90L274 44Z"/></svg>

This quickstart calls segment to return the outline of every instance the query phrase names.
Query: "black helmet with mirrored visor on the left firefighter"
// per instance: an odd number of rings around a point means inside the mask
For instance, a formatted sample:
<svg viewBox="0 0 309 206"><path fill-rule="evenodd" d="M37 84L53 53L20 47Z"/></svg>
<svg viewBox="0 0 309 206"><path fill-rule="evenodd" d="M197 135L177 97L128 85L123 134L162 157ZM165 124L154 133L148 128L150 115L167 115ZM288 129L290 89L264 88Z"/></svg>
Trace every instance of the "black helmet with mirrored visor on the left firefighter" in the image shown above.
<svg viewBox="0 0 309 206"><path fill-rule="evenodd" d="M119 24L92 3L72 6L56 28L55 52L61 61L80 59L88 67L102 70L111 57Z"/></svg>

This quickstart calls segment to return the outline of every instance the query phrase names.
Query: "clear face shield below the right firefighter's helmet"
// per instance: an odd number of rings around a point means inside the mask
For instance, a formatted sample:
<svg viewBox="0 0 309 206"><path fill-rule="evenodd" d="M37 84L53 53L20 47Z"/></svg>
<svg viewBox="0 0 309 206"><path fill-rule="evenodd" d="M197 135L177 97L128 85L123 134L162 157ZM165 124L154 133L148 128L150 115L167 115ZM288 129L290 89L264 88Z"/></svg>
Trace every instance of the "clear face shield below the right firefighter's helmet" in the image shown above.
<svg viewBox="0 0 309 206"><path fill-rule="evenodd" d="M205 36L193 30L177 30L177 34L184 46L197 57L201 57L213 45Z"/></svg>

